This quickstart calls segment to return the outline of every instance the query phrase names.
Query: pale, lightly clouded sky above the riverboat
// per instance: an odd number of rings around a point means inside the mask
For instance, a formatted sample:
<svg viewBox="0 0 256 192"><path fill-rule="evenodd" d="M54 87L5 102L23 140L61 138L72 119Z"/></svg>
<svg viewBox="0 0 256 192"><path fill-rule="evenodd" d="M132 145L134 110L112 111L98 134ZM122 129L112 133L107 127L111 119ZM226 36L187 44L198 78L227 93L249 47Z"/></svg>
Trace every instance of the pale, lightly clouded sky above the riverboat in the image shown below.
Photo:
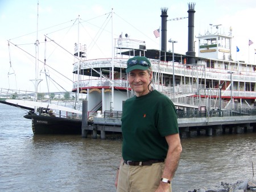
<svg viewBox="0 0 256 192"><path fill-rule="evenodd" d="M35 79L35 42L38 39L38 70L43 80L39 92L47 91L46 74L52 78L49 91L71 91L72 54L78 39L86 45L88 60L112 57L112 29L113 39L127 34L130 39L145 41L147 49L159 49L160 38L155 38L153 31L161 26L161 8L168 9L167 19L187 17L191 2L195 3L196 11L195 36L210 30L214 32L216 28L211 29L210 24L221 24L219 30L227 35L232 27L233 59L255 61L255 0L39 0L39 6L38 0L0 0L0 88L34 91L30 80ZM167 39L177 41L175 53L185 54L188 19L168 21ZM250 47L249 39L254 42ZM195 47L197 55L197 42ZM171 49L172 45L167 43L167 50ZM53 81L59 85L53 85Z"/></svg>

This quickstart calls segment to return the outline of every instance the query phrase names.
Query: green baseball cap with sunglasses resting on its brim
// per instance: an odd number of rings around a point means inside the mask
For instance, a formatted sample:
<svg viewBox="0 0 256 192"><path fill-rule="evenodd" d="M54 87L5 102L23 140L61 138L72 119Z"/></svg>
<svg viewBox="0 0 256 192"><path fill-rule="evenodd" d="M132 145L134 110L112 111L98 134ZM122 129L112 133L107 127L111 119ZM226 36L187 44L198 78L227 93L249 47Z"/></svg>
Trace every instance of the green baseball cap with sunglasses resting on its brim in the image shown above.
<svg viewBox="0 0 256 192"><path fill-rule="evenodd" d="M147 70L151 67L150 60L147 57L135 56L127 61L126 73L134 69Z"/></svg>

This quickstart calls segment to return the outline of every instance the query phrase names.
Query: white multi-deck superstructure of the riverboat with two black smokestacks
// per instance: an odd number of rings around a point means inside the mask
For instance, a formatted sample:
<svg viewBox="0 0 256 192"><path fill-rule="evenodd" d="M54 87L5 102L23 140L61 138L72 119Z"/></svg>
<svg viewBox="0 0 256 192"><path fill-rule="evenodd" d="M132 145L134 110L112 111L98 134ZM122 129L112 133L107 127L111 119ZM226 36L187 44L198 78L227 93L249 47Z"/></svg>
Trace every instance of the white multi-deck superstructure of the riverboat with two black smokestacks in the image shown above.
<svg viewBox="0 0 256 192"><path fill-rule="evenodd" d="M150 59L154 89L167 95L177 110L246 110L254 107L256 65L234 61L231 28L229 34L207 31L198 35L198 57L195 56L194 7L194 4L189 4L188 52L185 55L166 50L165 21L168 15L167 9L162 9L161 51L146 49L143 40L119 37L114 40L112 58L77 58L73 64L76 80L72 91L87 94L89 115L98 110L122 111L122 102L133 97L125 72L126 61L133 56ZM86 50L80 48L80 55L83 54Z"/></svg>

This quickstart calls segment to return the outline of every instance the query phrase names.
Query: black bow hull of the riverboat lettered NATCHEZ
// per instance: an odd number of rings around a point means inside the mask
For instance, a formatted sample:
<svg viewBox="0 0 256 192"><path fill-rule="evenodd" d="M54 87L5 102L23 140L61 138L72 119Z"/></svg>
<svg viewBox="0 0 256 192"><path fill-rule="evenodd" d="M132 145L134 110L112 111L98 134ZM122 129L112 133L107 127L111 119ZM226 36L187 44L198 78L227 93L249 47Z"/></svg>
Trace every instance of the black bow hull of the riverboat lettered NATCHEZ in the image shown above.
<svg viewBox="0 0 256 192"><path fill-rule="evenodd" d="M24 115L24 118L32 120L32 131L35 135L81 135L81 119L59 118L55 116L31 114Z"/></svg>

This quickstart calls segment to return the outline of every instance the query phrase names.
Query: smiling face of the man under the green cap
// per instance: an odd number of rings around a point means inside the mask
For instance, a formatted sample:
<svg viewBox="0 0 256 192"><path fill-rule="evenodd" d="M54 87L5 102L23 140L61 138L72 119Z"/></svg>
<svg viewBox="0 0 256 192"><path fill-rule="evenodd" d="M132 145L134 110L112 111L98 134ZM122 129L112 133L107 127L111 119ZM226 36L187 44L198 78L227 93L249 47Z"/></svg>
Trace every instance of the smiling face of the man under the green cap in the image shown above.
<svg viewBox="0 0 256 192"><path fill-rule="evenodd" d="M151 79L152 72L148 74L147 70L135 69L128 74L128 82L131 89L136 92L137 97L148 94L148 85L150 84Z"/></svg>

